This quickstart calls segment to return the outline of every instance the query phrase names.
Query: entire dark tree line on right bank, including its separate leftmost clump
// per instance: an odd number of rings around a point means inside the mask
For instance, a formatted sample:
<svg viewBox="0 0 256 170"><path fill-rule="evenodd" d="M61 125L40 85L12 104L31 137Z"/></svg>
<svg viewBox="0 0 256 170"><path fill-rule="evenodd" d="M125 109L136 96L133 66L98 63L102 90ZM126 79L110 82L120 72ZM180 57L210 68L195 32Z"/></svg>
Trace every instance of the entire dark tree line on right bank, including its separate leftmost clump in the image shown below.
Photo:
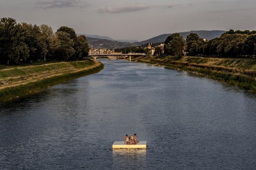
<svg viewBox="0 0 256 170"><path fill-rule="evenodd" d="M185 41L178 33L167 37L164 54L181 56L185 50L188 56L252 58L256 55L256 31L230 30L210 41L200 38L196 33L190 33Z"/></svg>

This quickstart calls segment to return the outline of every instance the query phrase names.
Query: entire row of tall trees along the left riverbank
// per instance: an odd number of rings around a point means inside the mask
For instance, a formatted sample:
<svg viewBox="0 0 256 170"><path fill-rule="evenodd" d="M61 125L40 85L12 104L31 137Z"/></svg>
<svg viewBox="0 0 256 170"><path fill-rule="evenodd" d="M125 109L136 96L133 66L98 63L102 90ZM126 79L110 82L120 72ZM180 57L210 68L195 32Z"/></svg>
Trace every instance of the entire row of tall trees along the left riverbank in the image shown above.
<svg viewBox="0 0 256 170"><path fill-rule="evenodd" d="M13 18L0 20L0 63L19 64L31 60L78 60L88 55L85 36L62 26L56 33L48 25L17 23Z"/></svg>

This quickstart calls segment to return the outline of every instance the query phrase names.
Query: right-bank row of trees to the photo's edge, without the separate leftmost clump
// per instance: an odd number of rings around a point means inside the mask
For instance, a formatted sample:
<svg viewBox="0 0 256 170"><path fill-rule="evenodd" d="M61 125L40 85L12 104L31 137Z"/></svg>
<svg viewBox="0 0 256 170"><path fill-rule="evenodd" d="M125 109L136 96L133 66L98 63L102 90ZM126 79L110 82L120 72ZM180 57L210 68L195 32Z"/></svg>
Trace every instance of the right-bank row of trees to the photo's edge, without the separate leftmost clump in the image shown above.
<svg viewBox="0 0 256 170"><path fill-rule="evenodd" d="M186 52L189 56L249 57L256 55L256 34L233 33L230 30L221 37L204 41L195 33L187 36ZM237 32L237 31L236 31Z"/></svg>

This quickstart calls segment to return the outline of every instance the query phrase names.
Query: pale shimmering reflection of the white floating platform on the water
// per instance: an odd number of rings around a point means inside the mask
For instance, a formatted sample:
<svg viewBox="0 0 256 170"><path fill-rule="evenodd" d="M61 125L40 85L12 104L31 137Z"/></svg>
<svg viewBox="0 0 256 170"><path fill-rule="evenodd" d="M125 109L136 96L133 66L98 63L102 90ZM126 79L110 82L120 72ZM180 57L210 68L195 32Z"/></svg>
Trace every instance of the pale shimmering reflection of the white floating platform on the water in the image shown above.
<svg viewBox="0 0 256 170"><path fill-rule="evenodd" d="M146 166L146 149L113 149L112 158L115 168L125 163L127 166Z"/></svg>

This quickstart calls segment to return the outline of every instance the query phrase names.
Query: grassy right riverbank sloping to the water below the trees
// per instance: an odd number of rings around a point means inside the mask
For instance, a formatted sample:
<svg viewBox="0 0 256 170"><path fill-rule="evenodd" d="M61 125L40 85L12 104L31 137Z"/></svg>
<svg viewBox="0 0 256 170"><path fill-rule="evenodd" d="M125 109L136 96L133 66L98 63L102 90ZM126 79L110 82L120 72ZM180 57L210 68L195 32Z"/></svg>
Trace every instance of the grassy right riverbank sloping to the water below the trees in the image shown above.
<svg viewBox="0 0 256 170"><path fill-rule="evenodd" d="M256 60L208 57L137 57L133 61L190 71L256 93Z"/></svg>

